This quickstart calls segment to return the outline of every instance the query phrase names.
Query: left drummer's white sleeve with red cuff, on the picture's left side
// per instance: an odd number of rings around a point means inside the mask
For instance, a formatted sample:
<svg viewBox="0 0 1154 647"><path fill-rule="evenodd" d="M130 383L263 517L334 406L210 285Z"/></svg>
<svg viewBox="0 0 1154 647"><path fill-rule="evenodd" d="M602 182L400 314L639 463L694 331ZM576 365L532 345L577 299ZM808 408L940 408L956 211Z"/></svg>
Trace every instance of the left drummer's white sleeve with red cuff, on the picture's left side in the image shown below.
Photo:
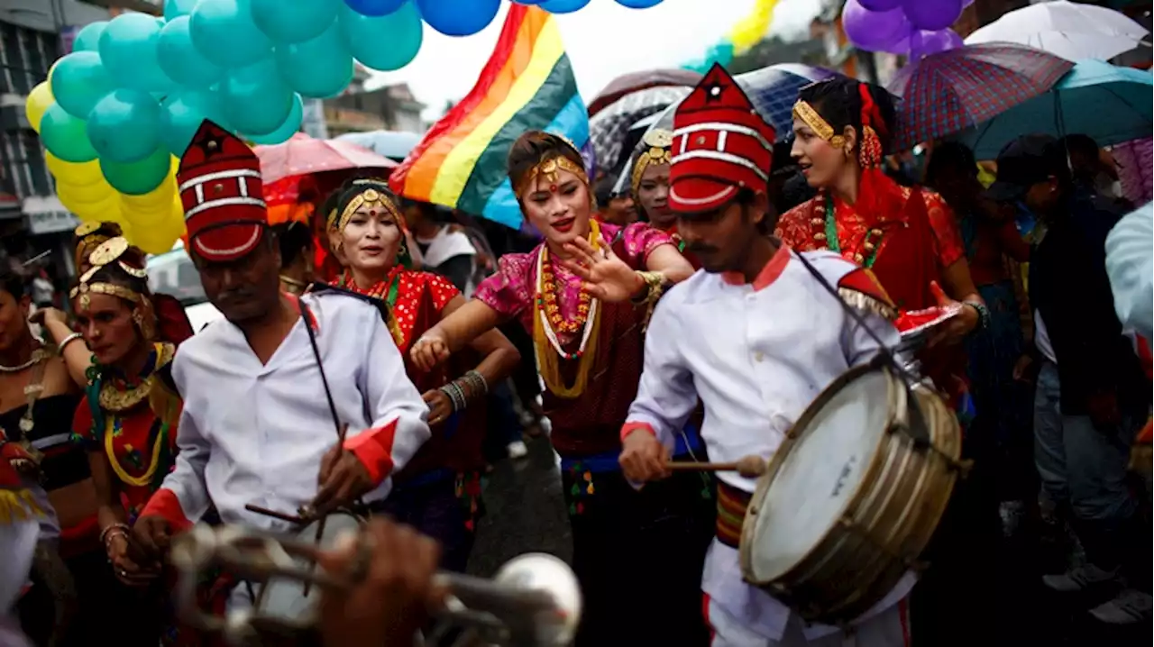
<svg viewBox="0 0 1154 647"><path fill-rule="evenodd" d="M179 391L187 393L180 360L178 353L172 366L172 376L180 386ZM177 428L177 450L175 467L165 476L164 484L149 498L140 516L160 516L179 527L198 520L211 503L204 484L204 468L212 447L209 439L201 434L196 416L187 406L180 414L180 426Z"/></svg>

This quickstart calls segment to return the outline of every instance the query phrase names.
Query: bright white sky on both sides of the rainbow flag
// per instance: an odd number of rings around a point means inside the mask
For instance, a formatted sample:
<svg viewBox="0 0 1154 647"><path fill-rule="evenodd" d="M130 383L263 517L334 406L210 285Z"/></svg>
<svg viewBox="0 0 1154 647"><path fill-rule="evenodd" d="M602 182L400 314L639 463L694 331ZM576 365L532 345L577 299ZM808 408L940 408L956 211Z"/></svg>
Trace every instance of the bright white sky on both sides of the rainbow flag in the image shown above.
<svg viewBox="0 0 1154 647"><path fill-rule="evenodd" d="M700 57L726 36L754 7L756 0L665 0L649 9L629 9L615 0L591 0L585 8L556 16L565 50L585 100L592 99L614 77L627 72L677 67ZM771 32L799 32L808 28L820 0L780 0ZM464 38L443 36L425 25L425 43L411 63L397 72L380 73L370 86L409 83L429 107L427 119L441 115L445 100L464 97L488 60L508 2L479 33Z"/></svg>

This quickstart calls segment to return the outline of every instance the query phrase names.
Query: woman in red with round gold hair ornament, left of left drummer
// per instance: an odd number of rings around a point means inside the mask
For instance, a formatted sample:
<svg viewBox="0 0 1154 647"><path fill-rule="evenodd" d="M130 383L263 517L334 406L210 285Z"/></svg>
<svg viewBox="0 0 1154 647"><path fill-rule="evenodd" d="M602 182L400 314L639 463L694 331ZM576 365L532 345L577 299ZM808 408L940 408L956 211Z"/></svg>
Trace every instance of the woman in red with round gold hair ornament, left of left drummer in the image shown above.
<svg viewBox="0 0 1154 647"><path fill-rule="evenodd" d="M92 353L73 434L88 451L100 541L112 571L137 590L132 597L136 608L123 610L132 619L118 641L177 645L162 567L137 558L128 528L174 464L181 400L168 371L177 344L190 328L187 321L171 326L157 318L144 255L123 238L100 243L88 261L70 293L80 332ZM182 638L185 644L192 639Z"/></svg>

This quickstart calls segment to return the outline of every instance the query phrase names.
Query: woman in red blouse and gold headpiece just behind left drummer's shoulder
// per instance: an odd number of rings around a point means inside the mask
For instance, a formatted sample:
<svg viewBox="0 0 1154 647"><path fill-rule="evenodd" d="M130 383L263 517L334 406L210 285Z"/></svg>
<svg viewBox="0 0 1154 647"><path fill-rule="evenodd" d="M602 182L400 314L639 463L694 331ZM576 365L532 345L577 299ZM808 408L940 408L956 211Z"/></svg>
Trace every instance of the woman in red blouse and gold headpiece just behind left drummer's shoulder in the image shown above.
<svg viewBox="0 0 1154 647"><path fill-rule="evenodd" d="M383 181L353 180L328 221L329 244L345 265L336 286L380 300L410 379L429 406L433 437L394 475L384 512L439 540L442 567L464 571L480 514L485 403L489 385L509 377L520 354L493 330L451 366L422 371L409 348L465 303L452 283L409 269L405 219Z"/></svg>

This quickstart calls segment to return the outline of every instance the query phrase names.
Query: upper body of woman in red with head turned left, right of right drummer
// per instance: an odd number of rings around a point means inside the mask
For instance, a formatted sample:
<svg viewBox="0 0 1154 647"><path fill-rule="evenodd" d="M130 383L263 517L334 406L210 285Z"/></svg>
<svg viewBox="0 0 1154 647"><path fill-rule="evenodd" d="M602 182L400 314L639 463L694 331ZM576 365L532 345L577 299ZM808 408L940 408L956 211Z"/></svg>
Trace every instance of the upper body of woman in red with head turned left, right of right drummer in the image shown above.
<svg viewBox="0 0 1154 647"><path fill-rule="evenodd" d="M833 78L802 88L792 155L818 195L786 212L777 235L799 251L830 249L872 270L902 310L961 302L930 339L923 368L964 412L958 344L989 316L945 201L882 171L894 121L890 95L876 85Z"/></svg>

